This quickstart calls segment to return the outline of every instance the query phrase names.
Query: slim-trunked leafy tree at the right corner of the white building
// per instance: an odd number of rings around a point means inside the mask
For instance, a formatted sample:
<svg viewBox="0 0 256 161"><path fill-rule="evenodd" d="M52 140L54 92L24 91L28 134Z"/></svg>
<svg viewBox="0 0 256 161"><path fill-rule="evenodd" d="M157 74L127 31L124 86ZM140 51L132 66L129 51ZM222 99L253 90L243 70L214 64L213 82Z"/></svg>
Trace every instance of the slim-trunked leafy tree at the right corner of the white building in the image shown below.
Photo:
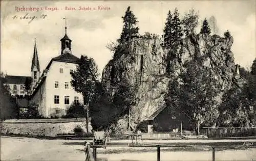
<svg viewBox="0 0 256 161"><path fill-rule="evenodd" d="M77 62L78 66L76 70L71 74L71 86L78 93L83 95L83 104L87 105L87 111L89 113L89 102L95 96L98 81L98 67L92 58L87 56L81 56ZM89 114L88 114L89 115ZM88 120L87 115L87 131L88 131Z"/></svg>

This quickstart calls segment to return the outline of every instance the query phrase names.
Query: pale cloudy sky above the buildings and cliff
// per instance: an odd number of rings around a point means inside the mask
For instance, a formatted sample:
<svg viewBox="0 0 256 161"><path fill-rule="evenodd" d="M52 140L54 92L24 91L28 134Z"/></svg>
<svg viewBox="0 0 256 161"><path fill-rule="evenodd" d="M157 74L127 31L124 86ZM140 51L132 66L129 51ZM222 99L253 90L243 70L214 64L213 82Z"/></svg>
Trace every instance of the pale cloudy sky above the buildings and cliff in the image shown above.
<svg viewBox="0 0 256 161"><path fill-rule="evenodd" d="M256 1L1 1L1 71L8 75L30 76L36 38L41 72L60 55L60 39L67 33L72 40L72 54L92 57L102 73L113 53L106 48L122 31L122 16L128 6L138 18L139 33L163 34L168 10L177 7L180 18L194 8L199 21L214 16L223 36L229 30L234 61L248 68L256 58ZM20 8L39 8L22 11ZM79 10L79 8L92 10ZM55 9L58 10L55 10ZM76 10L66 10L75 8ZM94 10L95 8L95 10ZM101 10L101 8L107 10ZM42 9L42 10L41 10ZM27 16L24 19L24 16ZM43 15L43 16L42 16ZM45 16L46 15L46 16ZM34 18L31 21L31 18ZM45 16L45 18L43 18ZM20 18L21 17L21 18ZM28 19L26 19L28 18ZM30 22L31 21L31 22ZM200 24L201 25L201 24ZM200 30L200 25L197 31Z"/></svg>

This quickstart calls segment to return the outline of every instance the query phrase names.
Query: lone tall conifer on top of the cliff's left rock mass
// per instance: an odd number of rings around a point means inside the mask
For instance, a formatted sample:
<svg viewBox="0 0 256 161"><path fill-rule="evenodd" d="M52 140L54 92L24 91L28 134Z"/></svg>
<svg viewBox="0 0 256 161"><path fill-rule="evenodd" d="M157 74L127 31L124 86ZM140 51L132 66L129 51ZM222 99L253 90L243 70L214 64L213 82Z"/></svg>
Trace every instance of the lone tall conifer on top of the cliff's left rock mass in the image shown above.
<svg viewBox="0 0 256 161"><path fill-rule="evenodd" d="M139 32L137 24L137 17L135 17L133 11L130 10L129 6L125 11L125 15L122 16L123 19L123 30L120 38L117 40L120 44L127 41L132 35L137 35Z"/></svg>

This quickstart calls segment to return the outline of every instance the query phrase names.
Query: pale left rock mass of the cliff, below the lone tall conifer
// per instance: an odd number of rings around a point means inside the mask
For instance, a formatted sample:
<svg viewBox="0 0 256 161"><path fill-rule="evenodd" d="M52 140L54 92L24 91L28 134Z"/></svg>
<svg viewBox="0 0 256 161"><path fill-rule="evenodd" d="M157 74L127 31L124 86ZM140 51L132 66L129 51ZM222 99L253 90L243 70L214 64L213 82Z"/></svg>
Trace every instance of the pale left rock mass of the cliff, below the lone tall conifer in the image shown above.
<svg viewBox="0 0 256 161"><path fill-rule="evenodd" d="M133 39L124 45L125 51L121 51L118 59L111 60L102 73L103 89L111 95L116 91L116 84L123 79L136 86L138 101L131 110L135 122L146 119L165 103L169 78L165 76L167 55L160 43L159 39Z"/></svg>

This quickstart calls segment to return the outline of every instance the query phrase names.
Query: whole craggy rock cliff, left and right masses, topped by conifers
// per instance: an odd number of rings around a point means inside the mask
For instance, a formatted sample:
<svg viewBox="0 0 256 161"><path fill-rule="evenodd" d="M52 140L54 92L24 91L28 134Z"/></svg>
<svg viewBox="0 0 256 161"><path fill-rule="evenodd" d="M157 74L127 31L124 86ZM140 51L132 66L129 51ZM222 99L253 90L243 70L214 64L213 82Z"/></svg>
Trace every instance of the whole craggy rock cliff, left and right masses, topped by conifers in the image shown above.
<svg viewBox="0 0 256 161"><path fill-rule="evenodd" d="M167 51L158 38L134 38L119 48L113 60L103 69L102 85L106 93L114 95L117 84L123 79L136 86L136 105L131 110L135 124L146 120L165 106L167 85L172 79L166 70L172 67L174 75L185 70L185 61L203 57L205 68L219 82L222 91L227 90L234 76L234 57L230 50L233 38L206 34L184 38L176 49L175 58L167 62Z"/></svg>

